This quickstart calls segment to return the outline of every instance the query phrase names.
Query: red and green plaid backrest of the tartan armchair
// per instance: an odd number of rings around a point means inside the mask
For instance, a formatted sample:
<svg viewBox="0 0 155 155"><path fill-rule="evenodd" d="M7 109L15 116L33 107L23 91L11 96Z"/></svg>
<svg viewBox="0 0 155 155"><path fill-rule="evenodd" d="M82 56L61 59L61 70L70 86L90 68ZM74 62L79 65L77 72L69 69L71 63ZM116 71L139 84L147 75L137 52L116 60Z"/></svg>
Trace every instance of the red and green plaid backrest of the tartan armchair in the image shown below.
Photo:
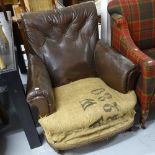
<svg viewBox="0 0 155 155"><path fill-rule="evenodd" d="M126 18L137 46L141 49L155 47L155 0L112 0L108 11Z"/></svg>

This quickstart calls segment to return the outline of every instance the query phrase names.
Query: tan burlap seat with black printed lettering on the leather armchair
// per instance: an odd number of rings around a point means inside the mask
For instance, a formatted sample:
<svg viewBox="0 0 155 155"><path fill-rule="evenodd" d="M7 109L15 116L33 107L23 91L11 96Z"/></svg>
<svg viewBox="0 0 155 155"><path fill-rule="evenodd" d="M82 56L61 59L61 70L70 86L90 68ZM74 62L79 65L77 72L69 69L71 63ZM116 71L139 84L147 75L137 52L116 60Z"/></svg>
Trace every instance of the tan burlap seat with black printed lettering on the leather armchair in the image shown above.
<svg viewBox="0 0 155 155"><path fill-rule="evenodd" d="M119 93L99 78L55 88L57 111L39 120L49 144L59 150L105 139L131 127L134 91Z"/></svg>

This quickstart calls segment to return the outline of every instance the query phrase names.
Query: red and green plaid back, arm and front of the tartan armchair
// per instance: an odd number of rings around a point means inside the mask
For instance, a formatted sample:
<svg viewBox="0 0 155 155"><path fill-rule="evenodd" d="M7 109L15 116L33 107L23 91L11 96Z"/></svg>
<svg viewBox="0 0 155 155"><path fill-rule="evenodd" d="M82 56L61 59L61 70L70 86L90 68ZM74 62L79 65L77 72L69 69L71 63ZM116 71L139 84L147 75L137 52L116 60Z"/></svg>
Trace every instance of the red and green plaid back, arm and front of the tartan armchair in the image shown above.
<svg viewBox="0 0 155 155"><path fill-rule="evenodd" d="M136 93L148 111L155 103L155 60L143 49L155 48L155 0L112 0L108 11L112 46L141 67Z"/></svg>

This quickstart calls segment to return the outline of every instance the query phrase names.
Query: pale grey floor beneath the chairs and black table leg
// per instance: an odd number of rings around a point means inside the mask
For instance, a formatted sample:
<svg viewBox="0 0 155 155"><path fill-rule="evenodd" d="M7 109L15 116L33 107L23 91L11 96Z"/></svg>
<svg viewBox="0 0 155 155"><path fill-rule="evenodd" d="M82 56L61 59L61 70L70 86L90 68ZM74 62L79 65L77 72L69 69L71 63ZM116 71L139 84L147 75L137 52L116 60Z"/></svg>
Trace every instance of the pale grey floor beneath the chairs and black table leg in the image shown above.
<svg viewBox="0 0 155 155"><path fill-rule="evenodd" d="M23 83L26 76L22 76ZM44 140L43 145L31 150L20 127L14 107L11 108L10 124L0 130L0 155L56 155ZM138 117L139 115L137 115ZM133 131L126 131L109 140L78 149L65 151L65 155L155 155L155 107L150 112L147 129L139 128L136 121ZM40 128L39 128L39 131Z"/></svg>

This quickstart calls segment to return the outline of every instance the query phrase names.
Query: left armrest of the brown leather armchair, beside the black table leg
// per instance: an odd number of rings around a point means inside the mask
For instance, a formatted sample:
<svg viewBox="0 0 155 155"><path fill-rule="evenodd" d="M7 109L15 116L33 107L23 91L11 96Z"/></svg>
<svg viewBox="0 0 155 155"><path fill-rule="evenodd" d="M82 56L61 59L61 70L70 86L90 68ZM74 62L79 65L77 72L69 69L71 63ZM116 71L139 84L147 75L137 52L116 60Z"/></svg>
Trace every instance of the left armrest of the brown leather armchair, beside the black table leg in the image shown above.
<svg viewBox="0 0 155 155"><path fill-rule="evenodd" d="M28 55L27 102L38 108L39 116L45 116L55 111L54 95L48 71L42 60Z"/></svg>

